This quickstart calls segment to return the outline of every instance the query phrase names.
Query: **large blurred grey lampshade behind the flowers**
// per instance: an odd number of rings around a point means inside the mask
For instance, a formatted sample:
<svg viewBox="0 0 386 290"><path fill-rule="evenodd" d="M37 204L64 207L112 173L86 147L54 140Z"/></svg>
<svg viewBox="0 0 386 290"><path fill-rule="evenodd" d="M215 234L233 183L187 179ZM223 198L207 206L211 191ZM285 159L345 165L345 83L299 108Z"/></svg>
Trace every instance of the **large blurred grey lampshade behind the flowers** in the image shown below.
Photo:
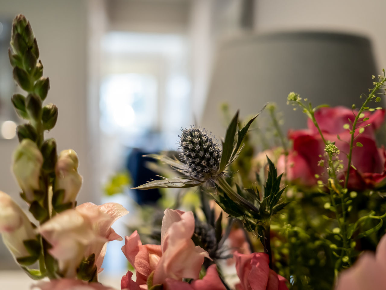
<svg viewBox="0 0 386 290"><path fill-rule="evenodd" d="M372 87L379 75L369 39L329 32L282 32L244 35L224 43L213 68L201 126L222 136L220 104L231 113L257 113L276 102L284 114L286 132L304 128L306 117L286 105L289 92L308 98L314 106L353 103Z"/></svg>

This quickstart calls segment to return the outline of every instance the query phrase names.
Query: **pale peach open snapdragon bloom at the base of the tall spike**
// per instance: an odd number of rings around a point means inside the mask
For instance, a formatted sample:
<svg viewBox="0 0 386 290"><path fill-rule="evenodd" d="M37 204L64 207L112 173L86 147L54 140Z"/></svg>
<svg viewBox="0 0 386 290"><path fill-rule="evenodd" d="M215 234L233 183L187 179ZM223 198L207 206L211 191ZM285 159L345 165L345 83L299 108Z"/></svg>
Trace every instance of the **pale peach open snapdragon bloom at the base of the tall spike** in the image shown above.
<svg viewBox="0 0 386 290"><path fill-rule="evenodd" d="M100 270L108 241L122 237L111 225L128 212L118 203L97 206L83 203L65 210L38 228L38 232L52 245L50 254L58 260L59 270L66 278L76 277L76 268L84 258L95 254Z"/></svg>

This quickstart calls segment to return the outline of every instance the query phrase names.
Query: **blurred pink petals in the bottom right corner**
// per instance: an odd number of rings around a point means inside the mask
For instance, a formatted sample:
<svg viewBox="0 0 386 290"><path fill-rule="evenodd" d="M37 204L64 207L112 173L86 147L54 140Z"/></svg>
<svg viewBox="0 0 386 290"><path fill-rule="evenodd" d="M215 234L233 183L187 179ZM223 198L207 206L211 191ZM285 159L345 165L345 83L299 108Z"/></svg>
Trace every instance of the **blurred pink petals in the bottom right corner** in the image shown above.
<svg viewBox="0 0 386 290"><path fill-rule="evenodd" d="M379 241L377 251L363 253L351 268L343 271L335 290L381 290L386 285L386 235Z"/></svg>

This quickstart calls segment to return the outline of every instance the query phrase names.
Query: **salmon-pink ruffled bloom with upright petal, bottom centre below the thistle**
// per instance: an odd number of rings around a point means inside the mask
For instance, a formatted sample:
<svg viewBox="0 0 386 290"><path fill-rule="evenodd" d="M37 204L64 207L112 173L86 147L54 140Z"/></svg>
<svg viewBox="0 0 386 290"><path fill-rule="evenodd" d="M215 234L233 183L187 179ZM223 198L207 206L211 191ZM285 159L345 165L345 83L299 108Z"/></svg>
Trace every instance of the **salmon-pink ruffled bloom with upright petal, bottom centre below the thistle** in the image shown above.
<svg viewBox="0 0 386 290"><path fill-rule="evenodd" d="M153 285L163 284L167 278L198 279L204 258L209 258L209 255L192 241L194 229L192 212L166 209L161 227L161 246L142 245L136 231L125 237L122 251L137 271L137 284L146 285L152 272Z"/></svg>

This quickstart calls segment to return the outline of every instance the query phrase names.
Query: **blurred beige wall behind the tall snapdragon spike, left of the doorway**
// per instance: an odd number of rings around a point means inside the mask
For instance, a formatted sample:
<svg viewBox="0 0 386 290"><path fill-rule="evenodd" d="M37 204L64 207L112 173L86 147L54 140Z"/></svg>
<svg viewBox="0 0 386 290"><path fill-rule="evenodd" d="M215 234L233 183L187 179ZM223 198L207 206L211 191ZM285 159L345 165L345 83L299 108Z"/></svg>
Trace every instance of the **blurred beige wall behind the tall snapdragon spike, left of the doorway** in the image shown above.
<svg viewBox="0 0 386 290"><path fill-rule="evenodd" d="M91 192L90 167L94 160L90 158L91 146L86 131L86 4L84 0L0 0L1 16L12 20L15 15L24 14L34 30L44 75L51 82L46 103L52 102L59 108L58 122L46 136L56 138L59 151L72 148L77 152L79 171L84 179L78 198L80 203L98 200ZM17 143L17 140L0 140L0 190L22 203L19 188L10 173L11 155ZM9 254L5 254L0 242L1 262L5 261L3 257L9 258Z"/></svg>

